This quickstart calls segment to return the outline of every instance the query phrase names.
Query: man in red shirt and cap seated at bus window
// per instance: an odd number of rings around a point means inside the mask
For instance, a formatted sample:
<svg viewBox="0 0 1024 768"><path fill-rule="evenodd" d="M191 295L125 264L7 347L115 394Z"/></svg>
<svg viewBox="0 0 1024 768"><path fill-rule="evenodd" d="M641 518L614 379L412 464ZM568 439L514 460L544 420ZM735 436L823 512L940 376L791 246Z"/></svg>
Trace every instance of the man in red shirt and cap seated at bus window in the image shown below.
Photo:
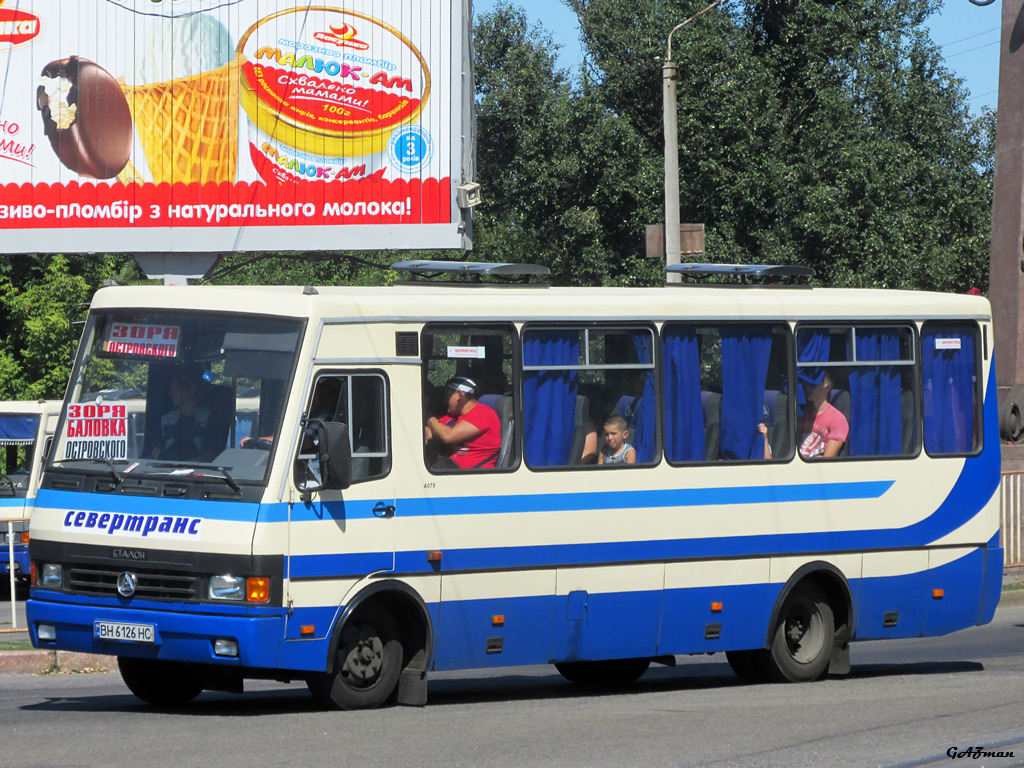
<svg viewBox="0 0 1024 768"><path fill-rule="evenodd" d="M502 446L502 428L494 409L476 399L476 382L456 376L444 385L444 420L430 417L427 440L451 452L455 469L494 469Z"/></svg>

